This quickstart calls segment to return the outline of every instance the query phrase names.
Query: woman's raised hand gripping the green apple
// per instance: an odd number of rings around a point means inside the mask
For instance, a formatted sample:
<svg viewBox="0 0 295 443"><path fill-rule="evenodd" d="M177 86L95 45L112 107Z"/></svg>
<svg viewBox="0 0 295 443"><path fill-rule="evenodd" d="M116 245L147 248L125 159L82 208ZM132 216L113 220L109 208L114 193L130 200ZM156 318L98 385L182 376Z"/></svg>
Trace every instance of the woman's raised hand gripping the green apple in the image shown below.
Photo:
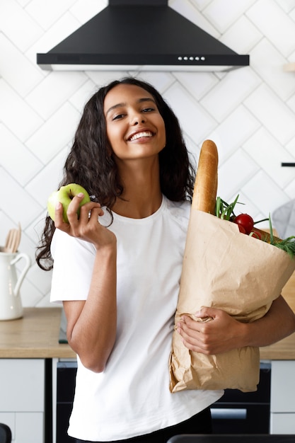
<svg viewBox="0 0 295 443"><path fill-rule="evenodd" d="M69 223L65 223L62 218L62 203L57 203L54 216L55 227L70 236L93 243L96 249L100 249L103 246L114 245L116 243L115 234L98 222L98 217L104 213L99 203L89 202L81 206L80 216L78 218L77 211L82 199L83 194L79 193L71 200L66 211Z"/></svg>

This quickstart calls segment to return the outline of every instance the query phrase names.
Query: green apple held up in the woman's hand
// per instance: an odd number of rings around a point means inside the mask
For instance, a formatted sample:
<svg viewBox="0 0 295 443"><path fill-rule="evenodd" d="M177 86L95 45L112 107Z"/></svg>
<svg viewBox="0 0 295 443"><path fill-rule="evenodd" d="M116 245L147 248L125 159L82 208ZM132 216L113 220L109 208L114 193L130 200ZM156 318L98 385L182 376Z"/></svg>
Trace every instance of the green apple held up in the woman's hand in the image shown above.
<svg viewBox="0 0 295 443"><path fill-rule="evenodd" d="M64 222L69 223L68 217L66 215L66 211L71 203L71 200L75 197L75 195L79 194L79 192L83 192L84 197L80 202L79 209L77 211L78 217L80 215L81 206L85 205L85 203L90 202L90 197L86 189L84 189L81 185L77 185L76 183L70 183L69 185L62 186L58 191L52 192L47 202L47 210L48 214L54 221L55 215L55 206L58 202L62 203L63 211L63 219Z"/></svg>

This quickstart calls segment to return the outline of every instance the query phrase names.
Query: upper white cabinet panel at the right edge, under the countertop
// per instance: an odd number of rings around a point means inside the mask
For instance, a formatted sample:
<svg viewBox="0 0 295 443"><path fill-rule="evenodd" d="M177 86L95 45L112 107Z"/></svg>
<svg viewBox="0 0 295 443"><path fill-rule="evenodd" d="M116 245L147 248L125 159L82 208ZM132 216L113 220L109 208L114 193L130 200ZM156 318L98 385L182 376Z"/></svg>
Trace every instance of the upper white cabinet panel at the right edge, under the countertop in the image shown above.
<svg viewBox="0 0 295 443"><path fill-rule="evenodd" d="M295 413L295 362L273 360L270 387L270 412Z"/></svg>

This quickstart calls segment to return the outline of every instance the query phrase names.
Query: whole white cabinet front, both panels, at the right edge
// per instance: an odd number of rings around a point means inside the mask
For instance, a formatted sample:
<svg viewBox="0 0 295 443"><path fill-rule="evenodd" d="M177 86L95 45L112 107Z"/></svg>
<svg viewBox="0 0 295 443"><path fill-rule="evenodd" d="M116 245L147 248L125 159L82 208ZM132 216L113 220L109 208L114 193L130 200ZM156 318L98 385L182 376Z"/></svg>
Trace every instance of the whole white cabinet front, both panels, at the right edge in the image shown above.
<svg viewBox="0 0 295 443"><path fill-rule="evenodd" d="M273 360L270 433L295 434L295 361Z"/></svg>

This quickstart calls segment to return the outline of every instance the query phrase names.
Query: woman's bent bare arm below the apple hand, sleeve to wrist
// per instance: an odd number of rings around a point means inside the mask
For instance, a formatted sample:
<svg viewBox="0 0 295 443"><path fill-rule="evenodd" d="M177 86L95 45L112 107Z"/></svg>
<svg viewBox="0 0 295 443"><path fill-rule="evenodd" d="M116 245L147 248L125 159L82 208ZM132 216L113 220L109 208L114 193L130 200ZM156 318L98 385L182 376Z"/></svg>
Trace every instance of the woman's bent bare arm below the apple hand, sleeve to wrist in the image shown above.
<svg viewBox="0 0 295 443"><path fill-rule="evenodd" d="M116 249L103 248L96 253L87 300L64 302L69 345L94 372L103 371L115 343L116 280Z"/></svg>

